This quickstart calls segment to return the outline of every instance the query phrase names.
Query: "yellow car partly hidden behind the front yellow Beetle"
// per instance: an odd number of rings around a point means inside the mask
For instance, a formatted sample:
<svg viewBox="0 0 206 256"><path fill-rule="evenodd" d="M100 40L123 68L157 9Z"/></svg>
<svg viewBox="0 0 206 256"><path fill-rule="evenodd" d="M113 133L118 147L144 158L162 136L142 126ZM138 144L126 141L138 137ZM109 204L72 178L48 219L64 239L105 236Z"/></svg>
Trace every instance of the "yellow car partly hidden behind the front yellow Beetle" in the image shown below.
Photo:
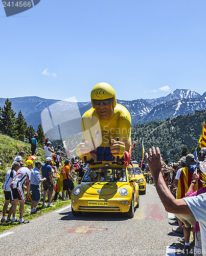
<svg viewBox="0 0 206 256"><path fill-rule="evenodd" d="M136 178L136 182L139 185L140 195L145 195L146 194L146 180L145 180L144 174L138 164L133 163L133 167L134 168L132 168L132 166L129 165L128 171L132 177Z"/></svg>

